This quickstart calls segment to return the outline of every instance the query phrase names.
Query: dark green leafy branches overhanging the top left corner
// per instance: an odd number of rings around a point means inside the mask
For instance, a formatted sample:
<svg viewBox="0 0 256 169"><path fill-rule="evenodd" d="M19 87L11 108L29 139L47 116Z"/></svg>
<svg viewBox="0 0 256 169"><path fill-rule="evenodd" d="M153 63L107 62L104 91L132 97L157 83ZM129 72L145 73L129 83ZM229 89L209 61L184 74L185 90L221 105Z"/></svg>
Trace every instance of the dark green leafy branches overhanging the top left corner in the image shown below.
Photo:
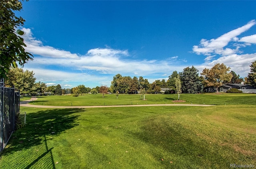
<svg viewBox="0 0 256 169"><path fill-rule="evenodd" d="M25 20L17 17L14 11L22 10L22 3L18 0L1 0L0 3L0 78L6 78L10 67L24 65L28 60L33 60L32 54L25 51L24 39L21 30L15 30L23 26Z"/></svg>

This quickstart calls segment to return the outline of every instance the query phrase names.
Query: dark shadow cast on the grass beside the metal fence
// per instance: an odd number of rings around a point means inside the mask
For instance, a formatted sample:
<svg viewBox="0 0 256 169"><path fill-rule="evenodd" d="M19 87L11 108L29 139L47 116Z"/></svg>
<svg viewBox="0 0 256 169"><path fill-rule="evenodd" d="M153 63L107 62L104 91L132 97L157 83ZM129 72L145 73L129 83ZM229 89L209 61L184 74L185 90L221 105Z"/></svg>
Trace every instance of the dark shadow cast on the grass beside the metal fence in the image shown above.
<svg viewBox="0 0 256 169"><path fill-rule="evenodd" d="M27 122L24 128L21 128L12 134L11 139L8 142L6 148L2 151L1 157L3 159L12 158L23 159L26 156L31 156L30 159L20 162L20 165L23 165L23 168L30 168L38 161L45 161L48 163L50 168L55 169L52 149L54 147L48 148L47 146L47 137L58 135L65 132L70 128L73 128L78 125L76 122L79 115L74 113L84 112L85 109L80 108L70 108L70 109L49 109L49 110L40 110L34 113L27 114ZM37 152L43 152L41 154L29 154L29 150L32 147L41 147ZM20 153L17 153L20 152ZM18 157L15 157L17 156ZM5 160L2 161L2 165L7 165ZM9 162L8 162L9 163ZM11 163L12 164L12 163ZM9 167L11 165L8 164ZM15 163L17 165L17 162ZM13 164L14 165L14 164ZM13 166L15 167L15 165Z"/></svg>

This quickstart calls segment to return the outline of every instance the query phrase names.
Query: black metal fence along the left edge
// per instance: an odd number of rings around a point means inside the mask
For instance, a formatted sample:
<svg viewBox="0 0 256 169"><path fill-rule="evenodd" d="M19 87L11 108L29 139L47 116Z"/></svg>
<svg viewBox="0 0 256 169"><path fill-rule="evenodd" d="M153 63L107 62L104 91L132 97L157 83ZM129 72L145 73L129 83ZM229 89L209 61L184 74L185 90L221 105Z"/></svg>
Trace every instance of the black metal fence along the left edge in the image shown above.
<svg viewBox="0 0 256 169"><path fill-rule="evenodd" d="M20 93L4 87L0 79L0 151L4 149L15 130L16 114L20 111Z"/></svg>

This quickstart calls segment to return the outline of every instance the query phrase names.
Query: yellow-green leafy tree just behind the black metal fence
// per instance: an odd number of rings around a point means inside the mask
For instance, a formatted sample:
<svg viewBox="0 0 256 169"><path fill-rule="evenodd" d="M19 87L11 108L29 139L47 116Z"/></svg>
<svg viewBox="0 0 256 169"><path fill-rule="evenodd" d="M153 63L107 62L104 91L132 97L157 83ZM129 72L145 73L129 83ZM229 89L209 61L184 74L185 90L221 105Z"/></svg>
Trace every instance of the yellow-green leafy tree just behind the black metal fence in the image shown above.
<svg viewBox="0 0 256 169"><path fill-rule="evenodd" d="M7 87L15 86L20 91L20 94L33 93L33 86L36 81L33 71L24 71L22 68L11 68L7 74L5 85Z"/></svg>

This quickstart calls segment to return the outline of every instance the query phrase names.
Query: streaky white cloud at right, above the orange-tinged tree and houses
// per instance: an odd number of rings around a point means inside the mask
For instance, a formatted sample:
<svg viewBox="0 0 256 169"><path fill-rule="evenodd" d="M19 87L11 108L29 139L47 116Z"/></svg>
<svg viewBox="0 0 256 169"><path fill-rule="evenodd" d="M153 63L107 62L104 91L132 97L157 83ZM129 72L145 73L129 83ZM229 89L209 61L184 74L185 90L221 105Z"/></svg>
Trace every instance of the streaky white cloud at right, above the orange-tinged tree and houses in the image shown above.
<svg viewBox="0 0 256 169"><path fill-rule="evenodd" d="M255 24L256 21L251 20L246 25L225 33L217 39L202 39L200 45L194 45L193 51L196 54L207 56L204 59L205 63L198 65L197 69L201 72L204 68L210 69L216 63L224 63L241 77L246 77L250 72L249 65L256 60L256 53L243 53L240 48L256 43L256 35L237 36Z"/></svg>

